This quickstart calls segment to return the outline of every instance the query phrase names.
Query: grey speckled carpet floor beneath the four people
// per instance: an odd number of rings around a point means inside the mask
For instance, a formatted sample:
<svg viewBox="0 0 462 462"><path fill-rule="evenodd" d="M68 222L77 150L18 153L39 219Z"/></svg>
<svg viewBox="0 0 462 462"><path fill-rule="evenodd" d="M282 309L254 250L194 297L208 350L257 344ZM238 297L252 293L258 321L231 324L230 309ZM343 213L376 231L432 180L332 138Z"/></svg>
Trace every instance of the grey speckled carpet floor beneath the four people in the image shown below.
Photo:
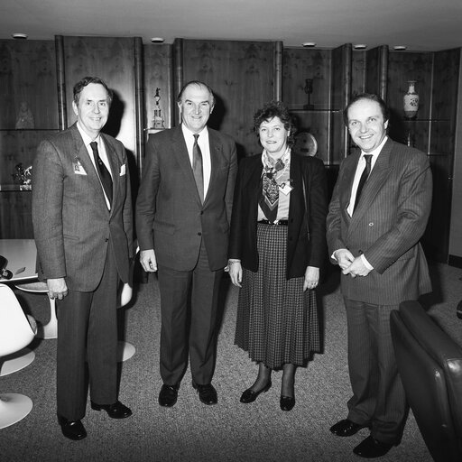
<svg viewBox="0 0 462 462"><path fill-rule="evenodd" d="M457 301L462 299L462 270L433 265L436 291L425 299L430 313L449 335L462 344L462 320ZM111 420L106 412L88 406L84 424L88 438L70 441L60 433L55 415L56 340L34 340L32 365L0 377L0 392L23 393L32 398L32 412L0 430L0 459L13 461L316 461L361 460L351 449L364 439L361 430L351 438L337 438L329 427L347 414L350 396L347 372L346 318L338 291L337 273L319 290L325 325L324 353L314 357L296 376L297 403L291 412L279 409L281 373L273 374L273 388L256 402L241 404L240 394L254 381L256 366L233 345L237 290L223 283L223 323L218 338L217 406L205 406L190 385L189 371L181 383L179 400L161 408L157 395L159 375L160 308L155 277L137 288L134 303L120 310L125 338L136 354L122 366L120 400L134 415ZM23 307L39 321L49 317L48 301L41 294L17 292ZM431 461L410 414L402 444L383 462Z"/></svg>

